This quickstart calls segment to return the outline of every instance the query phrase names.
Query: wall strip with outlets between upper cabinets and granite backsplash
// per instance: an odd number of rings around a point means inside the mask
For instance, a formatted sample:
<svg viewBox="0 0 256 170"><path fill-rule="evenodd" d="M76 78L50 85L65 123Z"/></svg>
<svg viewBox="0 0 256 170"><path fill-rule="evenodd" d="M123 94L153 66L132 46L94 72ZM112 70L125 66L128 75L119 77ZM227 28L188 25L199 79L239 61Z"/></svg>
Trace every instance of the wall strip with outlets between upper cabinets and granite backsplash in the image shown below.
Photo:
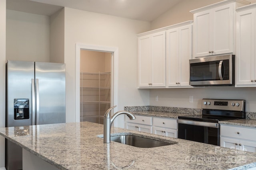
<svg viewBox="0 0 256 170"><path fill-rule="evenodd" d="M158 95L158 101L155 96ZM189 103L189 96L194 102ZM244 99L246 111L256 112L256 88L206 87L192 89L152 89L150 106L201 108L202 98Z"/></svg>

